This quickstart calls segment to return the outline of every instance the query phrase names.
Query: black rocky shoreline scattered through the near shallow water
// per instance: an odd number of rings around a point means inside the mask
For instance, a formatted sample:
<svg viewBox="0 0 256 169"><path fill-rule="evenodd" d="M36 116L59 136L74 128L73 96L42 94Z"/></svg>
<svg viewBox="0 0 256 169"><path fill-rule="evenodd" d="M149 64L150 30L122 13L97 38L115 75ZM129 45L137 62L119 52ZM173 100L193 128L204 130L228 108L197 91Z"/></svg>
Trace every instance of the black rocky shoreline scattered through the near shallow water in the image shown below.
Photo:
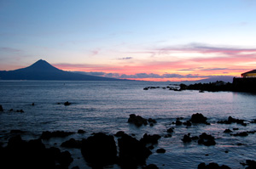
<svg viewBox="0 0 256 169"><path fill-rule="evenodd" d="M3 107L1 106L3 109ZM88 138L76 140L70 138L62 142L61 147L67 149L79 149L84 159L80 161L86 161L87 165L91 168L104 168L106 166L118 165L120 168L144 168L144 169L157 169L161 168L155 164L148 164L147 159L154 152L157 154L165 154L166 149L155 149L157 144L161 141L161 138L172 138L175 135L176 127L184 126L191 127L193 125L211 125L207 121L207 117L196 113L191 115L189 120L184 120L183 117L177 117L176 121L172 121L174 127L170 127L166 130L165 135L160 134L148 134L144 133L143 138L137 139L134 135L126 134L123 131L116 132L115 134L108 134L104 132L91 133ZM157 121L152 118L143 118L140 115L131 114L127 120L131 125L135 125L137 130L140 127L149 125L154 127ZM236 119L229 116L227 120L216 121L218 124L230 125L236 123L241 127L247 127L247 125L256 122L255 119L251 121L245 121ZM176 127L175 127L176 126ZM254 134L255 131L238 132L238 128L227 128L224 133L230 134L230 137L247 137L249 134ZM50 138L67 138L72 137L73 134L83 134L85 131L80 129L77 132L65 132L65 131L44 131L41 136L36 139L23 140L22 135L27 131L12 130L13 134L9 138L8 144L0 144L0 157L3 160L3 166L6 168L72 168L79 169L79 166L69 167L73 162L73 155L68 151L61 151L57 146L47 147L44 142ZM21 137L20 137L21 136ZM216 138L211 134L202 132L200 135L191 136L190 133L184 134L183 138L180 138L183 144L197 143L201 146L215 146L218 144ZM241 143L240 145L245 145ZM152 151L154 149L154 152ZM228 151L225 153L229 153ZM256 161L244 159L241 161L241 166L245 168L256 168ZM204 168L230 168L229 166L219 166L217 163L206 164L201 161L198 164L199 169Z"/></svg>

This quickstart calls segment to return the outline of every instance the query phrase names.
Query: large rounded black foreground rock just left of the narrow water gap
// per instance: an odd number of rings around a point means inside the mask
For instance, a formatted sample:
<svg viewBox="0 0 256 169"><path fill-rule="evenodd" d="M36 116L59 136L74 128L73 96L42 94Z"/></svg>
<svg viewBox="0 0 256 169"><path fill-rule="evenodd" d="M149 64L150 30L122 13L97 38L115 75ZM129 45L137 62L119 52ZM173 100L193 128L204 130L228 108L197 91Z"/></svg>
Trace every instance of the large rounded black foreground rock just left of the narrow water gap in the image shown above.
<svg viewBox="0 0 256 169"><path fill-rule="evenodd" d="M112 165L117 161L117 147L113 136L102 132L82 141L81 153L93 168Z"/></svg>

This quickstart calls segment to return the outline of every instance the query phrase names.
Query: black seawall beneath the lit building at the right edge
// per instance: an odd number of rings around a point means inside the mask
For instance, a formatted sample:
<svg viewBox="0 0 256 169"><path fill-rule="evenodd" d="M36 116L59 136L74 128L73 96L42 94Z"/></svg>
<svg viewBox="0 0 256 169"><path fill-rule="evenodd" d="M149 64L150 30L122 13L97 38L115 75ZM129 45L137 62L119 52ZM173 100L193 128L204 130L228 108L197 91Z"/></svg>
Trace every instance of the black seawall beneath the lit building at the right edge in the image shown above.
<svg viewBox="0 0 256 169"><path fill-rule="evenodd" d="M256 78L236 78L236 77L234 77L233 91L256 93Z"/></svg>

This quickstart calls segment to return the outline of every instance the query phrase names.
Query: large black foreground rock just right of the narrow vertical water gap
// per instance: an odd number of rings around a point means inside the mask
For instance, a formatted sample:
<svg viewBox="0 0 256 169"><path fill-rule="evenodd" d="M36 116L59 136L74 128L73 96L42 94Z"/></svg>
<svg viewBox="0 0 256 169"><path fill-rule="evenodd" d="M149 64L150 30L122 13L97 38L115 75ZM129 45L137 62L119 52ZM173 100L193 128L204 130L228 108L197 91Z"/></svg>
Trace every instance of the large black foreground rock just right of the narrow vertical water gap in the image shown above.
<svg viewBox="0 0 256 169"><path fill-rule="evenodd" d="M136 138L125 134L118 139L119 145L119 166L125 168L137 168L144 165L146 159L152 152Z"/></svg>

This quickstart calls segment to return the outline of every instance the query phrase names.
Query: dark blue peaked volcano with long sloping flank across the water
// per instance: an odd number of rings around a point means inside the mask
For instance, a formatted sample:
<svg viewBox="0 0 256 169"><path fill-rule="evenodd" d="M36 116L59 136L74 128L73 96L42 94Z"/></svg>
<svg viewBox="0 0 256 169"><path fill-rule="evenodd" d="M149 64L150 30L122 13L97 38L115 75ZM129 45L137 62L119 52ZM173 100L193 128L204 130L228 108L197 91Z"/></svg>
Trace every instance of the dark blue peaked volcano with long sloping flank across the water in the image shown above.
<svg viewBox="0 0 256 169"><path fill-rule="evenodd" d="M42 80L42 81L121 81L121 79L90 76L59 70L47 61L39 59L34 64L9 71L0 71L1 80Z"/></svg>

